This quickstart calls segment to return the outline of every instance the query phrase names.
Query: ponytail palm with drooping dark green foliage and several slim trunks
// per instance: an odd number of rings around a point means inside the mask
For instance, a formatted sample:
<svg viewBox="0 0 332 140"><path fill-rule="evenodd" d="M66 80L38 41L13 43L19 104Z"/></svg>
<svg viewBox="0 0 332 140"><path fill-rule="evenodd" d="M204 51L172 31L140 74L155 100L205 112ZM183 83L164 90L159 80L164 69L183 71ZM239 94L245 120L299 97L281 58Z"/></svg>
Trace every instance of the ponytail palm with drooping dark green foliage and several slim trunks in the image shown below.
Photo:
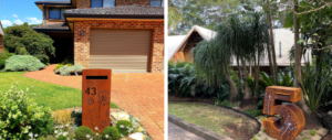
<svg viewBox="0 0 332 140"><path fill-rule="evenodd" d="M225 23L218 25L216 37L199 43L196 49L194 63L197 65L198 77L205 78L208 85L220 84L221 76L230 77L228 68L230 60L235 56L237 62L241 62L246 79L245 99L248 99L250 88L247 82L249 74L246 64L255 62L256 79L258 79L259 60L262 58L266 44L269 43L269 26L262 18L261 13L256 12L247 18L234 14ZM239 63L238 67L240 67ZM238 93L232 89L234 82L230 78L228 80L231 87L230 101L234 101ZM258 80L256 84L258 90Z"/></svg>

